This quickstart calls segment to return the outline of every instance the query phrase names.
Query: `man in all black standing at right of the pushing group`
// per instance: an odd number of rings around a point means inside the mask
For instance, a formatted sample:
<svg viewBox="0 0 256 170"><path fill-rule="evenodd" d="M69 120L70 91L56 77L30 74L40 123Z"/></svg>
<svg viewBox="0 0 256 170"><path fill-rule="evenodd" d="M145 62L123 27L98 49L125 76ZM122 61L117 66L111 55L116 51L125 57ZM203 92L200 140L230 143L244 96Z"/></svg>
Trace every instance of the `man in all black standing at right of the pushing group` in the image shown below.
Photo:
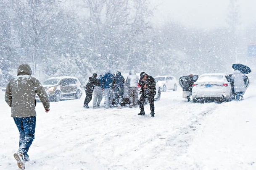
<svg viewBox="0 0 256 170"><path fill-rule="evenodd" d="M154 106L154 97L156 95L156 81L152 76L149 76L145 72L140 73L139 80L140 88L140 113L138 115L145 115L144 111L144 102L145 98L148 98L150 105L150 114L151 117L155 117L155 106Z"/></svg>

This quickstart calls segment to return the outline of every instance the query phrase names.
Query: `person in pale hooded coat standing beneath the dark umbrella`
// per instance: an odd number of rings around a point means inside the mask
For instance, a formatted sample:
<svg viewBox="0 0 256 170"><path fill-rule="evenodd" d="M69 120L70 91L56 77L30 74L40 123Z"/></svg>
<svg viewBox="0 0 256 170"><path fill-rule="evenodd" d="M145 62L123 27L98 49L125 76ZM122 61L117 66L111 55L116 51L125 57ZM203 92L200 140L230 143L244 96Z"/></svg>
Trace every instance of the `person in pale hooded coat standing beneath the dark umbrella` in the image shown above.
<svg viewBox="0 0 256 170"><path fill-rule="evenodd" d="M231 78L234 82L234 92L236 100L243 100L243 92L245 92L244 74L239 70L235 70Z"/></svg>

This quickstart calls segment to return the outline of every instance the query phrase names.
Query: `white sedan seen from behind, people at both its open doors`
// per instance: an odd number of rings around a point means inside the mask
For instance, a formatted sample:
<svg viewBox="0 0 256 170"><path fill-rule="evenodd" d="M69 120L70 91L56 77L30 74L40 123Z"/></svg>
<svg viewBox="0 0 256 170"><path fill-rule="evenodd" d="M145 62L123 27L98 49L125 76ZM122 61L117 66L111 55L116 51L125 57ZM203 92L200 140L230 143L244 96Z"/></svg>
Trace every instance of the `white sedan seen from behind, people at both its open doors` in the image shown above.
<svg viewBox="0 0 256 170"><path fill-rule="evenodd" d="M224 73L206 73L199 76L193 84L192 98L194 102L230 101L232 90L230 76Z"/></svg>

